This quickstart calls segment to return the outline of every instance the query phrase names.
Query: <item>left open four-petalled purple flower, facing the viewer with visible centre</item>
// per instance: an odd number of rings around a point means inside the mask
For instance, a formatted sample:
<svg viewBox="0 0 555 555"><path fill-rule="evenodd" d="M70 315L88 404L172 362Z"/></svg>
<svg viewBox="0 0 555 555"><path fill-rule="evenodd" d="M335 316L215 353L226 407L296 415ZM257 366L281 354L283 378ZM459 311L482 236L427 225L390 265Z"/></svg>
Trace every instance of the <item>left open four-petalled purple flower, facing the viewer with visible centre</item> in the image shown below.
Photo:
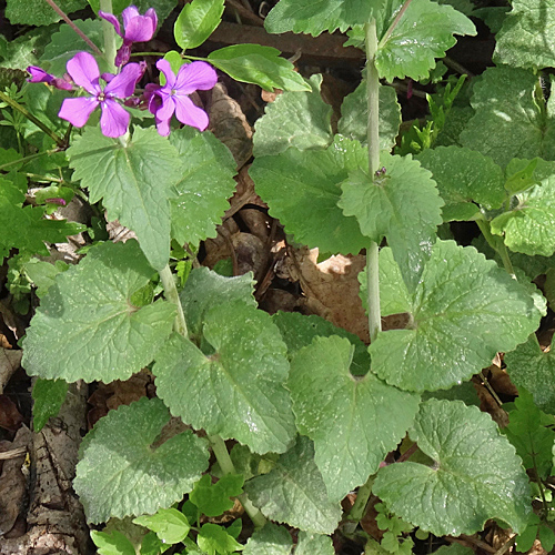
<svg viewBox="0 0 555 555"><path fill-rule="evenodd" d="M92 111L100 104L100 129L105 137L121 137L129 127L130 115L115 99L131 97L144 65L128 63L102 89L99 83L100 72L97 60L89 52L78 52L67 64L68 73L74 83L82 87L91 97L65 99L58 115L68 120L75 128L82 128Z"/></svg>

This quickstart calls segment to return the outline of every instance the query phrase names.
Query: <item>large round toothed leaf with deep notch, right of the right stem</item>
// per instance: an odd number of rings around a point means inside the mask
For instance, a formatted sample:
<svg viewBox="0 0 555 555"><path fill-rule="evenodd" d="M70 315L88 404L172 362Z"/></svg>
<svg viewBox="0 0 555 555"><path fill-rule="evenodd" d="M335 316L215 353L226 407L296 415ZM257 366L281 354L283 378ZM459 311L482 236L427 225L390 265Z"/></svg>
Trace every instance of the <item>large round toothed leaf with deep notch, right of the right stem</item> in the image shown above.
<svg viewBox="0 0 555 555"><path fill-rule="evenodd" d="M380 333L369 347L372 371L392 385L448 389L488 366L497 352L526 341L539 324L526 289L472 246L438 241L412 296L392 259L383 249L380 282L391 284L381 291L383 305L397 312L391 295L406 299L410 324Z"/></svg>

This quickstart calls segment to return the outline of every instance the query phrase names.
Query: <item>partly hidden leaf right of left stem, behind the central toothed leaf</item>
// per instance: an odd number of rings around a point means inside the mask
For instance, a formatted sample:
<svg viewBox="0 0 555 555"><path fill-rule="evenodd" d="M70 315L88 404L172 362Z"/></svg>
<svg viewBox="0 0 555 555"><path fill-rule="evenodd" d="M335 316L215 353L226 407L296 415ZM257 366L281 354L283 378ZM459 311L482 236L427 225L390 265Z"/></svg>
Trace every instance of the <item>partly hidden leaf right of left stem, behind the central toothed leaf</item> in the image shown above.
<svg viewBox="0 0 555 555"><path fill-rule="evenodd" d="M256 307L252 273L226 278L208 268L194 268L180 294L190 339L202 334L205 314L213 307L232 301Z"/></svg>

